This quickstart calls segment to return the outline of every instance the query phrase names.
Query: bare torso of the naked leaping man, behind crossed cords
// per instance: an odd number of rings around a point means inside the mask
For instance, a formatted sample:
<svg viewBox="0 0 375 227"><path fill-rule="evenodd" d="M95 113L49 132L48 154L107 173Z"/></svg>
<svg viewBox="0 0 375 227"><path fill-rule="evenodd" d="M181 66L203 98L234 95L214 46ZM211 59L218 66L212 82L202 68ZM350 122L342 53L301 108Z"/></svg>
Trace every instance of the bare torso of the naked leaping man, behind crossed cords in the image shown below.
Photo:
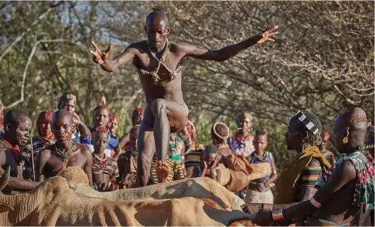
<svg viewBox="0 0 375 227"><path fill-rule="evenodd" d="M178 44L170 45L171 47L163 63L171 70L176 70L178 63L180 63L184 55L178 51ZM147 70L149 72L156 70L158 62L149 53L146 41L131 44L130 47L137 49L133 62L138 69ZM160 55L157 56L159 58L161 57ZM168 70L161 65L158 71L161 81L156 85L151 75L144 75L140 70L139 74L142 88L145 91L147 105L151 106L154 99L167 99L185 105L183 92L181 90L181 72L176 74L176 79L170 80Z"/></svg>

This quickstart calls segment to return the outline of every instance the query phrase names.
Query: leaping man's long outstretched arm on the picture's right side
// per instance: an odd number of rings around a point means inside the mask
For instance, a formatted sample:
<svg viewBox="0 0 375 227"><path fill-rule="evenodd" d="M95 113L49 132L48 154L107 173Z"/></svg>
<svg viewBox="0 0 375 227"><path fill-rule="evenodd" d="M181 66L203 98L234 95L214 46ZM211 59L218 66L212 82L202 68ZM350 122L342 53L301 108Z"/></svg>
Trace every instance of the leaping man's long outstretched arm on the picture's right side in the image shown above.
<svg viewBox="0 0 375 227"><path fill-rule="evenodd" d="M254 35L253 37L250 37L242 42L230 45L228 47L223 47L219 50L207 50L194 47L188 44L180 45L180 49L181 51L183 51L185 56L191 56L195 59L209 61L226 61L239 54L240 51L243 51L244 49L247 49L254 44L260 44L266 41L275 42L275 40L271 39L271 37L277 34L277 28L278 26L269 27L269 29L259 33L259 35Z"/></svg>

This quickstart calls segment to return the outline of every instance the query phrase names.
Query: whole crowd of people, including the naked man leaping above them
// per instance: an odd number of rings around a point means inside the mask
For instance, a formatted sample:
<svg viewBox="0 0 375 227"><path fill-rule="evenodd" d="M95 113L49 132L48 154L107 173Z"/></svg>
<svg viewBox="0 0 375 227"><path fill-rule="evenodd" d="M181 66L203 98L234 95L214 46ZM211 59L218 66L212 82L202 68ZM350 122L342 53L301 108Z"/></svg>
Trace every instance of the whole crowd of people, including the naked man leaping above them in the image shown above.
<svg viewBox="0 0 375 227"><path fill-rule="evenodd" d="M266 131L253 131L249 113L236 116L233 136L226 123L216 122L211 144L197 141L181 91L183 58L226 61L254 44L274 42L277 26L215 51L170 43L169 29L166 13L154 9L145 23L147 41L130 44L115 59L109 59L111 46L100 51L92 42L93 61L104 70L111 72L128 61L138 69L146 106L133 111L129 133L118 137L119 116L109 110L105 98L93 111L93 125L87 126L69 92L60 97L57 110L39 114L38 135L30 144L30 116L17 109L6 112L4 123L1 116L0 174L11 168L2 192L32 190L68 166L78 166L100 192L211 178L249 206L262 204L254 221L266 225L302 221L312 226L348 225L355 224L359 213L374 219L374 122L367 123L363 109L338 116L332 140L314 114L298 111L291 116L285 144L297 154L280 173L267 149ZM337 159L328 149L330 141L345 155ZM259 165L271 171L255 178Z"/></svg>

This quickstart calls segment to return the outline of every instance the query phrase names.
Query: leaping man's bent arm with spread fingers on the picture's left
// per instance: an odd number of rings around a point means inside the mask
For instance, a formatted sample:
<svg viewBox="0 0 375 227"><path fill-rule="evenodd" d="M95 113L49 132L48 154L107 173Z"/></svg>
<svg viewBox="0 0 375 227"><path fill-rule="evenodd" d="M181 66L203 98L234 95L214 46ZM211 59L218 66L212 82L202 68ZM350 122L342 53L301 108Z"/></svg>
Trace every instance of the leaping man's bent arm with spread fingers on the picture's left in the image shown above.
<svg viewBox="0 0 375 227"><path fill-rule="evenodd" d="M95 44L93 41L91 44L95 49L94 51L90 51L90 54L93 55L92 61L100 65L103 70L106 70L107 72L113 72L113 70L116 70L118 66L128 63L128 61L132 60L135 56L136 49L132 46L132 44L130 44L130 46L127 47L122 54L116 56L112 60L109 59L109 51L111 51L112 45L109 45L106 51L101 51L97 47L97 44Z"/></svg>

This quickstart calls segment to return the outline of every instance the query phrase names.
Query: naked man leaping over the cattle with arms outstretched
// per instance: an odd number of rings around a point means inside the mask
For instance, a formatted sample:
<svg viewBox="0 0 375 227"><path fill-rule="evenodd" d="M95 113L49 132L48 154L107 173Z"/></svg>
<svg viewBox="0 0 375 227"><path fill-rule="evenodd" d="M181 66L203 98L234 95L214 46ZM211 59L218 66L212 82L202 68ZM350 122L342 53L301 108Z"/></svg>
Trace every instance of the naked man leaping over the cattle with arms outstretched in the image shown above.
<svg viewBox="0 0 375 227"><path fill-rule="evenodd" d="M168 136L176 133L187 123L189 110L183 100L181 90L182 60L185 56L209 61L226 61L254 44L274 42L277 26L219 50L207 50L188 44L168 42L169 21L166 13L155 8L146 18L147 41L130 44L115 59L109 59L111 45L100 51L94 42L93 61L104 70L112 72L119 66L133 61L138 69L140 81L145 90L145 121L140 129L139 163L140 185L147 185L149 168L156 145L158 159L166 161L168 155ZM171 131L171 132L170 132ZM159 162L158 162L159 163Z"/></svg>

